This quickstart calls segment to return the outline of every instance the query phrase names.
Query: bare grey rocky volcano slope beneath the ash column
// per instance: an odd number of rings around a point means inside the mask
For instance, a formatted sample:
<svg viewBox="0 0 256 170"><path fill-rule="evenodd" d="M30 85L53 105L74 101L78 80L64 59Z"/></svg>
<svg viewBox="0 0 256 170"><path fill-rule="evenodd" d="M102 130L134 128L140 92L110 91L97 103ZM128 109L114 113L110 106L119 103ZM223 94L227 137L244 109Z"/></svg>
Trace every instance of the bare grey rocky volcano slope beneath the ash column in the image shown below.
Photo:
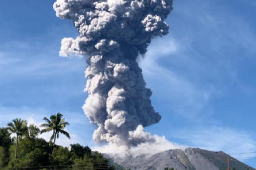
<svg viewBox="0 0 256 170"><path fill-rule="evenodd" d="M105 157L125 169L131 170L164 170L166 167L169 169L174 168L175 170L226 170L226 159L228 157L233 159L230 162L231 169L255 170L221 151L212 152L199 148L167 150L150 157L147 155L139 155L137 157L132 157L131 155L125 157L105 155Z"/></svg>

